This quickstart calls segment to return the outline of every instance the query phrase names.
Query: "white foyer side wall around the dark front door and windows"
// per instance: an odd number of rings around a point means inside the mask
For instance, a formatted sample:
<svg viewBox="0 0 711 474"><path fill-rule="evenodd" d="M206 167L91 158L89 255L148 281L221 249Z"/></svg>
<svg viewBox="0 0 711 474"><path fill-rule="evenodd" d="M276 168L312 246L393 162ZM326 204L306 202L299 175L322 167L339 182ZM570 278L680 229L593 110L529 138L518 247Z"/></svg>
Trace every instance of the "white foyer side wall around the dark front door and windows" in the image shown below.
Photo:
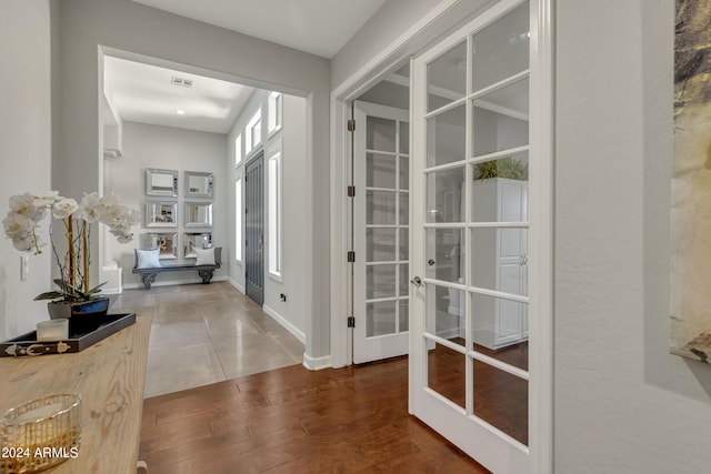
<svg viewBox="0 0 711 474"><path fill-rule="evenodd" d="M304 183L307 182L307 103L303 98L283 95L283 125L281 131L271 137L267 132L269 121L269 92L258 90L250 99L242 113L228 133L228 175L230 182L229 192L229 232L230 242L234 242L234 181L237 175L244 177L244 164L259 150L264 150L264 170L269 149L279 140L282 141L282 274L281 281L269 274L269 254L264 252L264 311L276 317L289 329L297 337L304 340L307 329L307 311L309 282L302 276L302 269L308 265L307 246L308 235L303 225L303 209L308 205ZM234 168L234 140L242 134L242 149L244 148L244 127L254 112L261 108L263 144L250 155L242 159L239 168ZM264 172L264 190L268 190L268 174ZM244 203L244 182L242 181L242 203ZM269 249L269 209L264 198L264 249ZM243 223L242 223L243 228ZM242 236L244 230L242 229ZM230 244L229 260L230 279L239 289L244 289L243 262L237 262ZM242 255L244 250L242 249ZM282 302L280 295L284 294L287 301Z"/></svg>

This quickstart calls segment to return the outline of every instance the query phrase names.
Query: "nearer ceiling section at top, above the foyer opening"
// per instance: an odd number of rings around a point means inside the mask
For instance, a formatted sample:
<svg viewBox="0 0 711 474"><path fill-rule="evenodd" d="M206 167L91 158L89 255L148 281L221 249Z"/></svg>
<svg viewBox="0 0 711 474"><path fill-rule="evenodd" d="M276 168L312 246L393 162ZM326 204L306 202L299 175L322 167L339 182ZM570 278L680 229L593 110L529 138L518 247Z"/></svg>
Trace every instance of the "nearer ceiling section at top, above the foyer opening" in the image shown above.
<svg viewBox="0 0 711 474"><path fill-rule="evenodd" d="M387 0L132 0L332 58Z"/></svg>

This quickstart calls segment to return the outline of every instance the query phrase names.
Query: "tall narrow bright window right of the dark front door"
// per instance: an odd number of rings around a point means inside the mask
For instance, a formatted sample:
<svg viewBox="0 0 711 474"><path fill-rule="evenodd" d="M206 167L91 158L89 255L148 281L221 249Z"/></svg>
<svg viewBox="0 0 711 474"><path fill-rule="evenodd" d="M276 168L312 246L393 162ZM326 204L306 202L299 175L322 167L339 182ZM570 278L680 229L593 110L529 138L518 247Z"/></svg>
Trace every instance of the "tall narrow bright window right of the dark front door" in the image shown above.
<svg viewBox="0 0 711 474"><path fill-rule="evenodd" d="M281 140L269 150L269 274L281 281Z"/></svg>

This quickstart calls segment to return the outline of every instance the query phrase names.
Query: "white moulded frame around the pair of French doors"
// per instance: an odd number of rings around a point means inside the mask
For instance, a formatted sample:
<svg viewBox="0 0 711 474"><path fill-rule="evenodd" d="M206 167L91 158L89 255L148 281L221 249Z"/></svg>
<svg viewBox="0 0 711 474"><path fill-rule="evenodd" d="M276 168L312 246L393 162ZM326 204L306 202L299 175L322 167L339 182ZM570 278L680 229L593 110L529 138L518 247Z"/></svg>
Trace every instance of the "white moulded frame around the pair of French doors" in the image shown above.
<svg viewBox="0 0 711 474"><path fill-rule="evenodd" d="M465 6L464 3L468 3ZM553 7L554 0L530 0L531 159L529 212L535 215L529 226L529 465L530 473L553 472ZM383 49L331 93L331 359L340 367L352 363L350 331L347 327L349 268L348 186L350 103L407 58L430 46L437 38L455 31L462 18L473 19L490 1L444 0L405 33ZM467 20L467 22L469 22ZM412 103L412 88L410 102ZM412 109L411 109L412 110ZM412 113L410 117L412 122ZM412 142L413 137L411 134ZM412 145L412 143L411 143ZM412 147L411 147L412 150ZM411 172L411 175L413 173ZM410 200L413 205L413 200ZM412 226L411 226L412 233ZM410 240L413 244L412 239ZM412 273L412 269L410 272ZM410 396L411 400L411 396Z"/></svg>

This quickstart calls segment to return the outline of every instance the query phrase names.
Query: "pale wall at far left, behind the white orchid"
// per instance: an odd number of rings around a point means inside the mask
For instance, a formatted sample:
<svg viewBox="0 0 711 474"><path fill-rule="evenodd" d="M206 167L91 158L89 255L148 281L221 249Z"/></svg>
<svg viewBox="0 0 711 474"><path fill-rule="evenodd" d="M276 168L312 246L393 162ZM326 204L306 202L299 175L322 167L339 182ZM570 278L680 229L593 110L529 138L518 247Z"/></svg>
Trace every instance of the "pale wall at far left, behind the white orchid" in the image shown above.
<svg viewBox="0 0 711 474"><path fill-rule="evenodd" d="M0 14L0 219L11 195L51 188L50 1L8 0ZM48 222L42 225L48 240ZM30 274L20 281L20 255L0 236L0 341L34 330L47 320L51 290L48 246L30 255Z"/></svg>

